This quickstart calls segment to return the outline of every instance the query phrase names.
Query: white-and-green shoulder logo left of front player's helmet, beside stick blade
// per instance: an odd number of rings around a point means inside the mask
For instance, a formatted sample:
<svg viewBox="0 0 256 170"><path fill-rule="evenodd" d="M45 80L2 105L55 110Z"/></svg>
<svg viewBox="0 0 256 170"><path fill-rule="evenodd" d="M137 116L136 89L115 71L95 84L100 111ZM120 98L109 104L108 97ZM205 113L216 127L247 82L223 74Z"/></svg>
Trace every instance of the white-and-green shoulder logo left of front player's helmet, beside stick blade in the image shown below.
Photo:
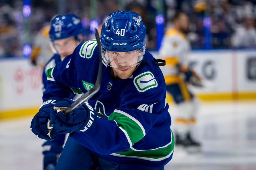
<svg viewBox="0 0 256 170"><path fill-rule="evenodd" d="M80 48L79 55L83 58L87 58L87 59L91 58L96 45L97 45L96 40L86 41Z"/></svg>

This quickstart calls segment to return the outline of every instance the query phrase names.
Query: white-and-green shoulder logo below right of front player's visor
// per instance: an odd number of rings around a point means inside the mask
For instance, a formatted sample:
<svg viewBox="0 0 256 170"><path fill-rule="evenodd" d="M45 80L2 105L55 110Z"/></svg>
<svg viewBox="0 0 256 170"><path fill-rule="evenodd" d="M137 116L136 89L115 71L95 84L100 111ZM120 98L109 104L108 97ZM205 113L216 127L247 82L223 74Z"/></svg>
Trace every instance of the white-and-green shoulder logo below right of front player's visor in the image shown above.
<svg viewBox="0 0 256 170"><path fill-rule="evenodd" d="M133 83L139 92L145 92L148 89L157 87L157 81L154 75L150 72L144 72L136 76Z"/></svg>

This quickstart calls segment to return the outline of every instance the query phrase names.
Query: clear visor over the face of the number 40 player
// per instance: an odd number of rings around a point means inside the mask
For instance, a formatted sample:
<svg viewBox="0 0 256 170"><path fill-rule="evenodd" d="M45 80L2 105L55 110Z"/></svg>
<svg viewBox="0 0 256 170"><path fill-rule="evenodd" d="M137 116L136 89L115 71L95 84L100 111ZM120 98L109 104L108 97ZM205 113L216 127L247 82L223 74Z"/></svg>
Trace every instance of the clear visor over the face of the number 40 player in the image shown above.
<svg viewBox="0 0 256 170"><path fill-rule="evenodd" d="M129 68L138 65L145 54L145 48L130 51L116 52L102 48L102 59L110 67Z"/></svg>

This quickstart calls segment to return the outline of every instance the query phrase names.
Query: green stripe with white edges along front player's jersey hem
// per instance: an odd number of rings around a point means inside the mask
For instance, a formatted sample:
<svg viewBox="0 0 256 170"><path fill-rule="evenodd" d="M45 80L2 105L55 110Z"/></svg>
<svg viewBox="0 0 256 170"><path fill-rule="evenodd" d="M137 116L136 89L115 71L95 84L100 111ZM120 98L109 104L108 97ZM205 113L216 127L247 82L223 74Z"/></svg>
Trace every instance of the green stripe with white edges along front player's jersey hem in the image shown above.
<svg viewBox="0 0 256 170"><path fill-rule="evenodd" d="M110 155L126 158L138 158L151 161L161 161L169 158L174 148L174 137L172 134L172 140L169 144L152 150L134 150L128 149L126 151L112 153Z"/></svg>

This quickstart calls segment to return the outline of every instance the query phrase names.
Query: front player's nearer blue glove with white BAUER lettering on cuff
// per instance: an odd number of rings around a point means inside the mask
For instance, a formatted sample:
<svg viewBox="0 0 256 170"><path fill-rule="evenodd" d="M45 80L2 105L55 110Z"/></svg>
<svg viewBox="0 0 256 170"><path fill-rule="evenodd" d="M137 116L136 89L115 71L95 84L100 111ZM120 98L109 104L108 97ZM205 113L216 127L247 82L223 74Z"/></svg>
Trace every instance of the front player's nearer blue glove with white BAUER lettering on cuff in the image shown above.
<svg viewBox="0 0 256 170"><path fill-rule="evenodd" d="M51 111L51 122L55 130L60 134L72 133L75 131L84 132L93 126L97 119L97 114L87 102L69 115L64 115L61 110L69 107L73 100L63 99L54 105Z"/></svg>

